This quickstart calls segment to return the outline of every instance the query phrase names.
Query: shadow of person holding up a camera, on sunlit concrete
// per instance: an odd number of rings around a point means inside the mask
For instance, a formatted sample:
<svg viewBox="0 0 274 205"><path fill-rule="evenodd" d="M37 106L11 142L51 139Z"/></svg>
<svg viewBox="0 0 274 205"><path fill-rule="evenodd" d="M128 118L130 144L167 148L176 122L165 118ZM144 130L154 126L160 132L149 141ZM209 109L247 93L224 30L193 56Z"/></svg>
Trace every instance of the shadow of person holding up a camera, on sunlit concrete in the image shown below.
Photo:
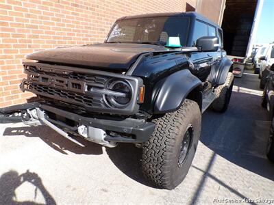
<svg viewBox="0 0 274 205"><path fill-rule="evenodd" d="M24 182L29 182L42 193L42 197L45 200L45 204L56 204L55 200L47 191L44 184L42 184L41 178L34 172L25 172L18 175L16 171L6 172L0 177L0 204L13 205L13 204L40 204L32 201L17 202L15 190L21 186ZM36 191L35 191L36 192ZM36 195L36 193L34 193ZM14 200L15 199L15 200Z"/></svg>

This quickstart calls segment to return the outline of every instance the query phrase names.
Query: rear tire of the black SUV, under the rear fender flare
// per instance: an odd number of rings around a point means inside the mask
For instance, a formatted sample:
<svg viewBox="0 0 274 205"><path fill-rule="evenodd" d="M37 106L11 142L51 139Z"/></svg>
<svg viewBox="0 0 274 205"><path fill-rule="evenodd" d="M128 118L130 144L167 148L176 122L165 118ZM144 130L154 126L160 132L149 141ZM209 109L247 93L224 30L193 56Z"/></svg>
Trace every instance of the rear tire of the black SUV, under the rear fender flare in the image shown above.
<svg viewBox="0 0 274 205"><path fill-rule="evenodd" d="M232 95L233 84L234 75L232 72L229 72L225 83L216 87L214 91L217 96L217 98L212 102L212 109L214 111L223 113L227 110Z"/></svg>

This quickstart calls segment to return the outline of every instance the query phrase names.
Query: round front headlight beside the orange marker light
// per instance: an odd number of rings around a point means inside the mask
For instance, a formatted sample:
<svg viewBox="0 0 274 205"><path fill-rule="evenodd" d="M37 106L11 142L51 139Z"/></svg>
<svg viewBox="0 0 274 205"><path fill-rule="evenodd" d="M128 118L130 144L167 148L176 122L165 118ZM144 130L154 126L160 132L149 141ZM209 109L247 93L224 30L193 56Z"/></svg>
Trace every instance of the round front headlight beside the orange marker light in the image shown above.
<svg viewBox="0 0 274 205"><path fill-rule="evenodd" d="M132 87L127 81L112 81L108 85L108 90L111 92L106 96L106 99L112 107L126 107L132 100Z"/></svg>

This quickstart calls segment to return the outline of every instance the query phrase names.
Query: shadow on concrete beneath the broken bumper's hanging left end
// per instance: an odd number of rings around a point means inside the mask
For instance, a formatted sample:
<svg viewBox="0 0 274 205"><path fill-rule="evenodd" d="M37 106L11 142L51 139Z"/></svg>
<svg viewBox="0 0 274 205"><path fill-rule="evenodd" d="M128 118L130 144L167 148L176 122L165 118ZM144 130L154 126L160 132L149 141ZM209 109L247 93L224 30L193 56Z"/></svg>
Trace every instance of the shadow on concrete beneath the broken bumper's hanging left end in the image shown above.
<svg viewBox="0 0 274 205"><path fill-rule="evenodd" d="M74 138L84 145L84 147L79 146L76 143L73 143L73 141L62 137L47 126L8 127L5 128L3 135L39 137L42 141L47 143L48 146L62 154L68 154L66 150L75 154L103 154L102 146L99 144L75 136Z"/></svg>

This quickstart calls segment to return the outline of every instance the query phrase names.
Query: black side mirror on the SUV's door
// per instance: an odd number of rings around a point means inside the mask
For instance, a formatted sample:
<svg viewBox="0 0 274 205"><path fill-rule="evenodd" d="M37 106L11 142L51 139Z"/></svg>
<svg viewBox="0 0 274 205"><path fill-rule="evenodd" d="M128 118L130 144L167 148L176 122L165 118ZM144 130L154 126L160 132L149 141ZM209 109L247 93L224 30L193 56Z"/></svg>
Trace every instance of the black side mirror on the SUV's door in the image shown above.
<svg viewBox="0 0 274 205"><path fill-rule="evenodd" d="M196 41L196 47L200 51L217 51L219 46L219 38L216 36L203 36Z"/></svg>

